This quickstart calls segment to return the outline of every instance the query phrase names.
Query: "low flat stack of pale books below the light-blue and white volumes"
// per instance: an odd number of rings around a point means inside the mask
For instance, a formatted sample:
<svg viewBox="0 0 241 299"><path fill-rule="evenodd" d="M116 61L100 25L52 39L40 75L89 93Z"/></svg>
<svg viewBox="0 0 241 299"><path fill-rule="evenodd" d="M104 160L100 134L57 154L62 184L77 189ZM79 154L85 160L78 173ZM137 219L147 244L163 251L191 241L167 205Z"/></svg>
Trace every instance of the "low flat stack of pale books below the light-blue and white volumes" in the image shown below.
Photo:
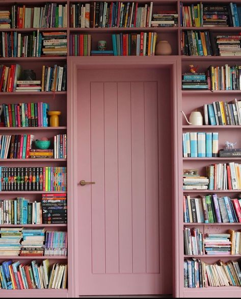
<svg viewBox="0 0 241 299"><path fill-rule="evenodd" d="M205 190L208 187L209 179L197 174L183 175L183 190Z"/></svg>

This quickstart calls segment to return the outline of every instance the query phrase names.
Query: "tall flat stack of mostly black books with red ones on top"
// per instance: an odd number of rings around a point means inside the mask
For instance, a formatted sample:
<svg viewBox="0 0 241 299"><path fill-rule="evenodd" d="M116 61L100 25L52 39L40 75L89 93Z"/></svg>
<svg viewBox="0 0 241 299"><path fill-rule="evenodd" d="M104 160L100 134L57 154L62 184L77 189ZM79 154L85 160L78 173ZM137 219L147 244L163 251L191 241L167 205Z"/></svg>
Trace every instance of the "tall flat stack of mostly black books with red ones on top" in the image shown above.
<svg viewBox="0 0 241 299"><path fill-rule="evenodd" d="M43 194L41 201L43 223L67 223L66 194Z"/></svg>

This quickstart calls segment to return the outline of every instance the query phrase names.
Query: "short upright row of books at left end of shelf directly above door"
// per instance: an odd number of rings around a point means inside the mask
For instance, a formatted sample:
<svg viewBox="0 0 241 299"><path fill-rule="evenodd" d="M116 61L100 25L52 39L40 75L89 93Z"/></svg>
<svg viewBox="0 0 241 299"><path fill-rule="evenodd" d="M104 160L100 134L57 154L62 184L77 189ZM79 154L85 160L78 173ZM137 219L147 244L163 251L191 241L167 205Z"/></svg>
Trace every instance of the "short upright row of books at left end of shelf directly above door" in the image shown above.
<svg viewBox="0 0 241 299"><path fill-rule="evenodd" d="M91 35L90 34L70 34L69 37L70 56L90 56Z"/></svg>

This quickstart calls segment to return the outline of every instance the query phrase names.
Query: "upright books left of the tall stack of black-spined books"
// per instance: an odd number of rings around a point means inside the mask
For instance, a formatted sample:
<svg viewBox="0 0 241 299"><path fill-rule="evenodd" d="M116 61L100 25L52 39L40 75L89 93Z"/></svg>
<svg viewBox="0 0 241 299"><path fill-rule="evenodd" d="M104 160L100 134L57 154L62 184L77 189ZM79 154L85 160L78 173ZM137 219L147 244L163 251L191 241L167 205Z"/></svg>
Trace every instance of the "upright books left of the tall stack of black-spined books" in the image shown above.
<svg viewBox="0 0 241 299"><path fill-rule="evenodd" d="M0 225L41 224L40 202L31 202L24 197L15 200L0 200Z"/></svg>

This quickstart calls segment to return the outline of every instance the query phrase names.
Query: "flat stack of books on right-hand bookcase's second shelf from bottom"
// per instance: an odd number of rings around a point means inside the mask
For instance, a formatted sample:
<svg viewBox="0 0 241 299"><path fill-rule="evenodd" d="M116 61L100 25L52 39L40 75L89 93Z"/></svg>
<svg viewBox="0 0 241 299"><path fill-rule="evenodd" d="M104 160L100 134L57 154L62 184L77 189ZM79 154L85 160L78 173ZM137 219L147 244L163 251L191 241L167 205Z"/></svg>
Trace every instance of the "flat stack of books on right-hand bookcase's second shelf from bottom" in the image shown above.
<svg viewBox="0 0 241 299"><path fill-rule="evenodd" d="M204 250L206 255L230 255L230 234L209 234L204 238Z"/></svg>

